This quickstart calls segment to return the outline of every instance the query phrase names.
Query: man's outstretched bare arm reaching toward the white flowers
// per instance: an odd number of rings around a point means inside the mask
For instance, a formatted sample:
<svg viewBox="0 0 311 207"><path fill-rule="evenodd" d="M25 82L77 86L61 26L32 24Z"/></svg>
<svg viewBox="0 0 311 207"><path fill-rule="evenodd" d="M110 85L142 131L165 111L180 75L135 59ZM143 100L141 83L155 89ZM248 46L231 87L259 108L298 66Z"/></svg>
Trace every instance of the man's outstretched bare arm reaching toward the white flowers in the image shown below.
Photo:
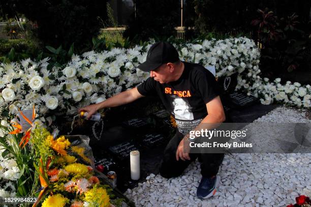
<svg viewBox="0 0 311 207"><path fill-rule="evenodd" d="M83 107L79 109L78 111L79 113L81 111L87 112L88 115L86 119L89 119L93 114L95 114L100 109L125 105L141 97L144 97L144 96L138 92L137 88L133 88L131 90L118 93L102 102Z"/></svg>

